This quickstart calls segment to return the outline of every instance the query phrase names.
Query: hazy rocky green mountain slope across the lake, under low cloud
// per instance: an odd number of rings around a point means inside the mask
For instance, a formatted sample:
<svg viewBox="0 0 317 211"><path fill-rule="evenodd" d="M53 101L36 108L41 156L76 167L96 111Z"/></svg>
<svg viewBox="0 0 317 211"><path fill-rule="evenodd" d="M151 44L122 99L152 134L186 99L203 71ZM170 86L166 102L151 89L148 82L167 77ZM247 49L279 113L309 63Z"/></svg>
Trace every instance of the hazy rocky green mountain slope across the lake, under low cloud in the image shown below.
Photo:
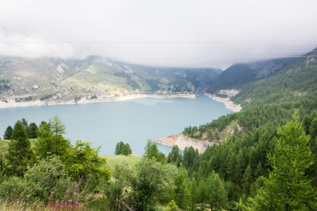
<svg viewBox="0 0 317 211"><path fill-rule="evenodd" d="M196 93L221 74L213 68L169 68L132 65L90 56L1 58L1 100L79 100L129 92Z"/></svg>

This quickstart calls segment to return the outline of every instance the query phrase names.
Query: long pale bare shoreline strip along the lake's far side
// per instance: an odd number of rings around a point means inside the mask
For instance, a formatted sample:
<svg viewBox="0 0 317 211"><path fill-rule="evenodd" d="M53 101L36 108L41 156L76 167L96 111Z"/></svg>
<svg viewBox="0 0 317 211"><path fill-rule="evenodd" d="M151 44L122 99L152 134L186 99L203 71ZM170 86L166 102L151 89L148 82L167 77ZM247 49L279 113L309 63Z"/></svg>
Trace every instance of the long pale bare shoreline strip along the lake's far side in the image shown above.
<svg viewBox="0 0 317 211"><path fill-rule="evenodd" d="M50 101L28 101L28 102L15 102L14 99L9 99L8 102L0 101L0 109L11 108L11 107L33 107L33 106L50 106L50 105L61 105L61 104L89 104L96 102L117 102L124 101L129 99L138 99L138 98L177 98L177 97L186 97L186 98L196 98L196 94L127 94L125 96L118 97L109 97L109 95L101 95L96 99L87 99L86 97L80 99L78 102L74 102L74 99L68 101L60 100L50 100Z"/></svg>

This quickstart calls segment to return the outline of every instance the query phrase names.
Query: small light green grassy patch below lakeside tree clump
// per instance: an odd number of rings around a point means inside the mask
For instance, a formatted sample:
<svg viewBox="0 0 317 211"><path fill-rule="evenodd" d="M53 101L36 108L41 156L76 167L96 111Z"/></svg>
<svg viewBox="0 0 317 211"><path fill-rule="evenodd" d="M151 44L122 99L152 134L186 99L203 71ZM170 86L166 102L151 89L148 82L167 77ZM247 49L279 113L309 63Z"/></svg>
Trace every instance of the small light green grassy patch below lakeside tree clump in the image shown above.
<svg viewBox="0 0 317 211"><path fill-rule="evenodd" d="M135 166L138 161L140 161L141 157L131 154L130 156L101 156L101 158L107 159L107 166L110 168L111 172L113 172L114 168L116 168L116 165L123 163L126 161L128 163L128 166Z"/></svg>

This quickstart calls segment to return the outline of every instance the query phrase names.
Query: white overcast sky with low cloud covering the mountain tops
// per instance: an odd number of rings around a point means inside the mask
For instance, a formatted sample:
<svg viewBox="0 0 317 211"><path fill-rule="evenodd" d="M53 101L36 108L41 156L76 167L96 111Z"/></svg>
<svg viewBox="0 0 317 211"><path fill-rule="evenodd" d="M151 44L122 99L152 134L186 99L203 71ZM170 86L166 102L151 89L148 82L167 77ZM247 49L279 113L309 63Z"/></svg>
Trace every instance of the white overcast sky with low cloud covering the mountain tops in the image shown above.
<svg viewBox="0 0 317 211"><path fill-rule="evenodd" d="M317 47L316 0L1 0L0 54L221 67Z"/></svg>

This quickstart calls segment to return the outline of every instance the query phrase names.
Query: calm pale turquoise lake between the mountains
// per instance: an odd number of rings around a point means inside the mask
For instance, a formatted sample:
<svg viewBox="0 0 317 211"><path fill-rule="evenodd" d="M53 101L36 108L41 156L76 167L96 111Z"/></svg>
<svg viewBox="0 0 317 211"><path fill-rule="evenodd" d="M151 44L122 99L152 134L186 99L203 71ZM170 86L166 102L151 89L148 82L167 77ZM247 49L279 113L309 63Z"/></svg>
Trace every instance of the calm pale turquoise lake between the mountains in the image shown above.
<svg viewBox="0 0 317 211"><path fill-rule="evenodd" d="M116 143L130 144L133 153L143 155L148 139L153 141L180 134L184 127L199 126L232 113L221 102L200 95L191 98L140 98L118 102L13 107L0 109L0 137L6 127L25 118L28 124L48 121L57 115L65 126L65 137L101 146L100 154L113 155ZM160 145L167 154L171 147Z"/></svg>

